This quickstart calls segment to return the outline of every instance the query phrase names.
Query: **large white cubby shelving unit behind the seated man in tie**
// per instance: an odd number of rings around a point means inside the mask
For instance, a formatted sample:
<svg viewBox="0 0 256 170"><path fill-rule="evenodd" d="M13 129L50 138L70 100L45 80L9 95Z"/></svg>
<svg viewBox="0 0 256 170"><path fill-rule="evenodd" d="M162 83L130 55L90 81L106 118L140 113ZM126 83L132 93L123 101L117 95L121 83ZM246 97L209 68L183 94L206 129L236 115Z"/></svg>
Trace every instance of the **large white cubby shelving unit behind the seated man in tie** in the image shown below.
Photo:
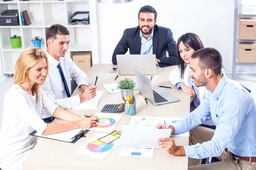
<svg viewBox="0 0 256 170"><path fill-rule="evenodd" d="M97 35L96 0L12 0L1 2L0 13L7 9L17 9L20 26L0 26L0 52L2 56L3 73L14 74L15 63L21 52L32 47L32 38L42 37L42 50L47 48L46 32L52 24L61 24L70 31L70 46L67 57L73 57L77 51L91 51L92 62L99 63L99 48ZM20 12L27 10L31 25L23 26ZM89 11L89 25L71 25L70 17L76 11ZM10 37L21 37L21 48L12 48Z"/></svg>

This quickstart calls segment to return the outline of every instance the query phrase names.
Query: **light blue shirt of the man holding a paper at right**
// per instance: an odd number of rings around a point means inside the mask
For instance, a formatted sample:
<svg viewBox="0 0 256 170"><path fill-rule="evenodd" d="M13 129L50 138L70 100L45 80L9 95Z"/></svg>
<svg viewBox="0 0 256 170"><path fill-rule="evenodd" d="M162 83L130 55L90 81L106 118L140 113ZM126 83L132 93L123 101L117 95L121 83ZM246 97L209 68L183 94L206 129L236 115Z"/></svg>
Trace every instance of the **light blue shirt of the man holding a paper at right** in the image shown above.
<svg viewBox="0 0 256 170"><path fill-rule="evenodd" d="M184 146L187 157L220 156L225 147L236 156L256 157L256 105L246 89L223 76L195 111L173 125L175 134L193 129L210 116L216 125L212 140Z"/></svg>

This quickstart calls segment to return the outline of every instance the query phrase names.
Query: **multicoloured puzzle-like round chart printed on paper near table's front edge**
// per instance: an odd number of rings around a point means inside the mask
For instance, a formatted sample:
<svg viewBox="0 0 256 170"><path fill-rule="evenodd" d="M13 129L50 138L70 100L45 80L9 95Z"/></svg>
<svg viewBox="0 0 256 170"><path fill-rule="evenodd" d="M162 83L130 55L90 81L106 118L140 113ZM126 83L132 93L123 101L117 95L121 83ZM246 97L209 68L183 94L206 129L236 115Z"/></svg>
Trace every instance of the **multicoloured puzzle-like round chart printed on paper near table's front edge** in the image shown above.
<svg viewBox="0 0 256 170"><path fill-rule="evenodd" d="M99 140L96 140L88 143L87 149L89 149L91 152L102 153L102 152L107 152L108 150L111 150L113 146L114 146L113 142L111 142L110 144L105 144Z"/></svg>

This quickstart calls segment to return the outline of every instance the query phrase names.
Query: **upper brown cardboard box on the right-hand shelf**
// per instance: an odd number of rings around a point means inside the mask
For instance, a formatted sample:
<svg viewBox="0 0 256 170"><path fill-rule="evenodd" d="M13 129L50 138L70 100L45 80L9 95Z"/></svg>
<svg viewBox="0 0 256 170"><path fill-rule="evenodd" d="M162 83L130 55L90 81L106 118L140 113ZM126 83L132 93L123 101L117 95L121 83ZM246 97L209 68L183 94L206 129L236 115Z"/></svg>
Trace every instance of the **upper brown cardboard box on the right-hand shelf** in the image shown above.
<svg viewBox="0 0 256 170"><path fill-rule="evenodd" d="M238 37L241 40L256 40L256 18L238 19Z"/></svg>

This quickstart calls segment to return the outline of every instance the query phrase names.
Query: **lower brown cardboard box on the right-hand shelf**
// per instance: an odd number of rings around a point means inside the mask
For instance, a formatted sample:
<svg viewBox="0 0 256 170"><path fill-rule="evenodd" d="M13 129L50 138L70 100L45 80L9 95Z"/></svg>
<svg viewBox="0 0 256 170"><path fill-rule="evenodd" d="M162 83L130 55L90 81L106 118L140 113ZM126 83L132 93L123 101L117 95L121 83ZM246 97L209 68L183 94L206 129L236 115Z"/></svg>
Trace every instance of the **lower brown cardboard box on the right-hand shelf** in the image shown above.
<svg viewBox="0 0 256 170"><path fill-rule="evenodd" d="M256 43L238 42L237 60L241 63L256 63Z"/></svg>

